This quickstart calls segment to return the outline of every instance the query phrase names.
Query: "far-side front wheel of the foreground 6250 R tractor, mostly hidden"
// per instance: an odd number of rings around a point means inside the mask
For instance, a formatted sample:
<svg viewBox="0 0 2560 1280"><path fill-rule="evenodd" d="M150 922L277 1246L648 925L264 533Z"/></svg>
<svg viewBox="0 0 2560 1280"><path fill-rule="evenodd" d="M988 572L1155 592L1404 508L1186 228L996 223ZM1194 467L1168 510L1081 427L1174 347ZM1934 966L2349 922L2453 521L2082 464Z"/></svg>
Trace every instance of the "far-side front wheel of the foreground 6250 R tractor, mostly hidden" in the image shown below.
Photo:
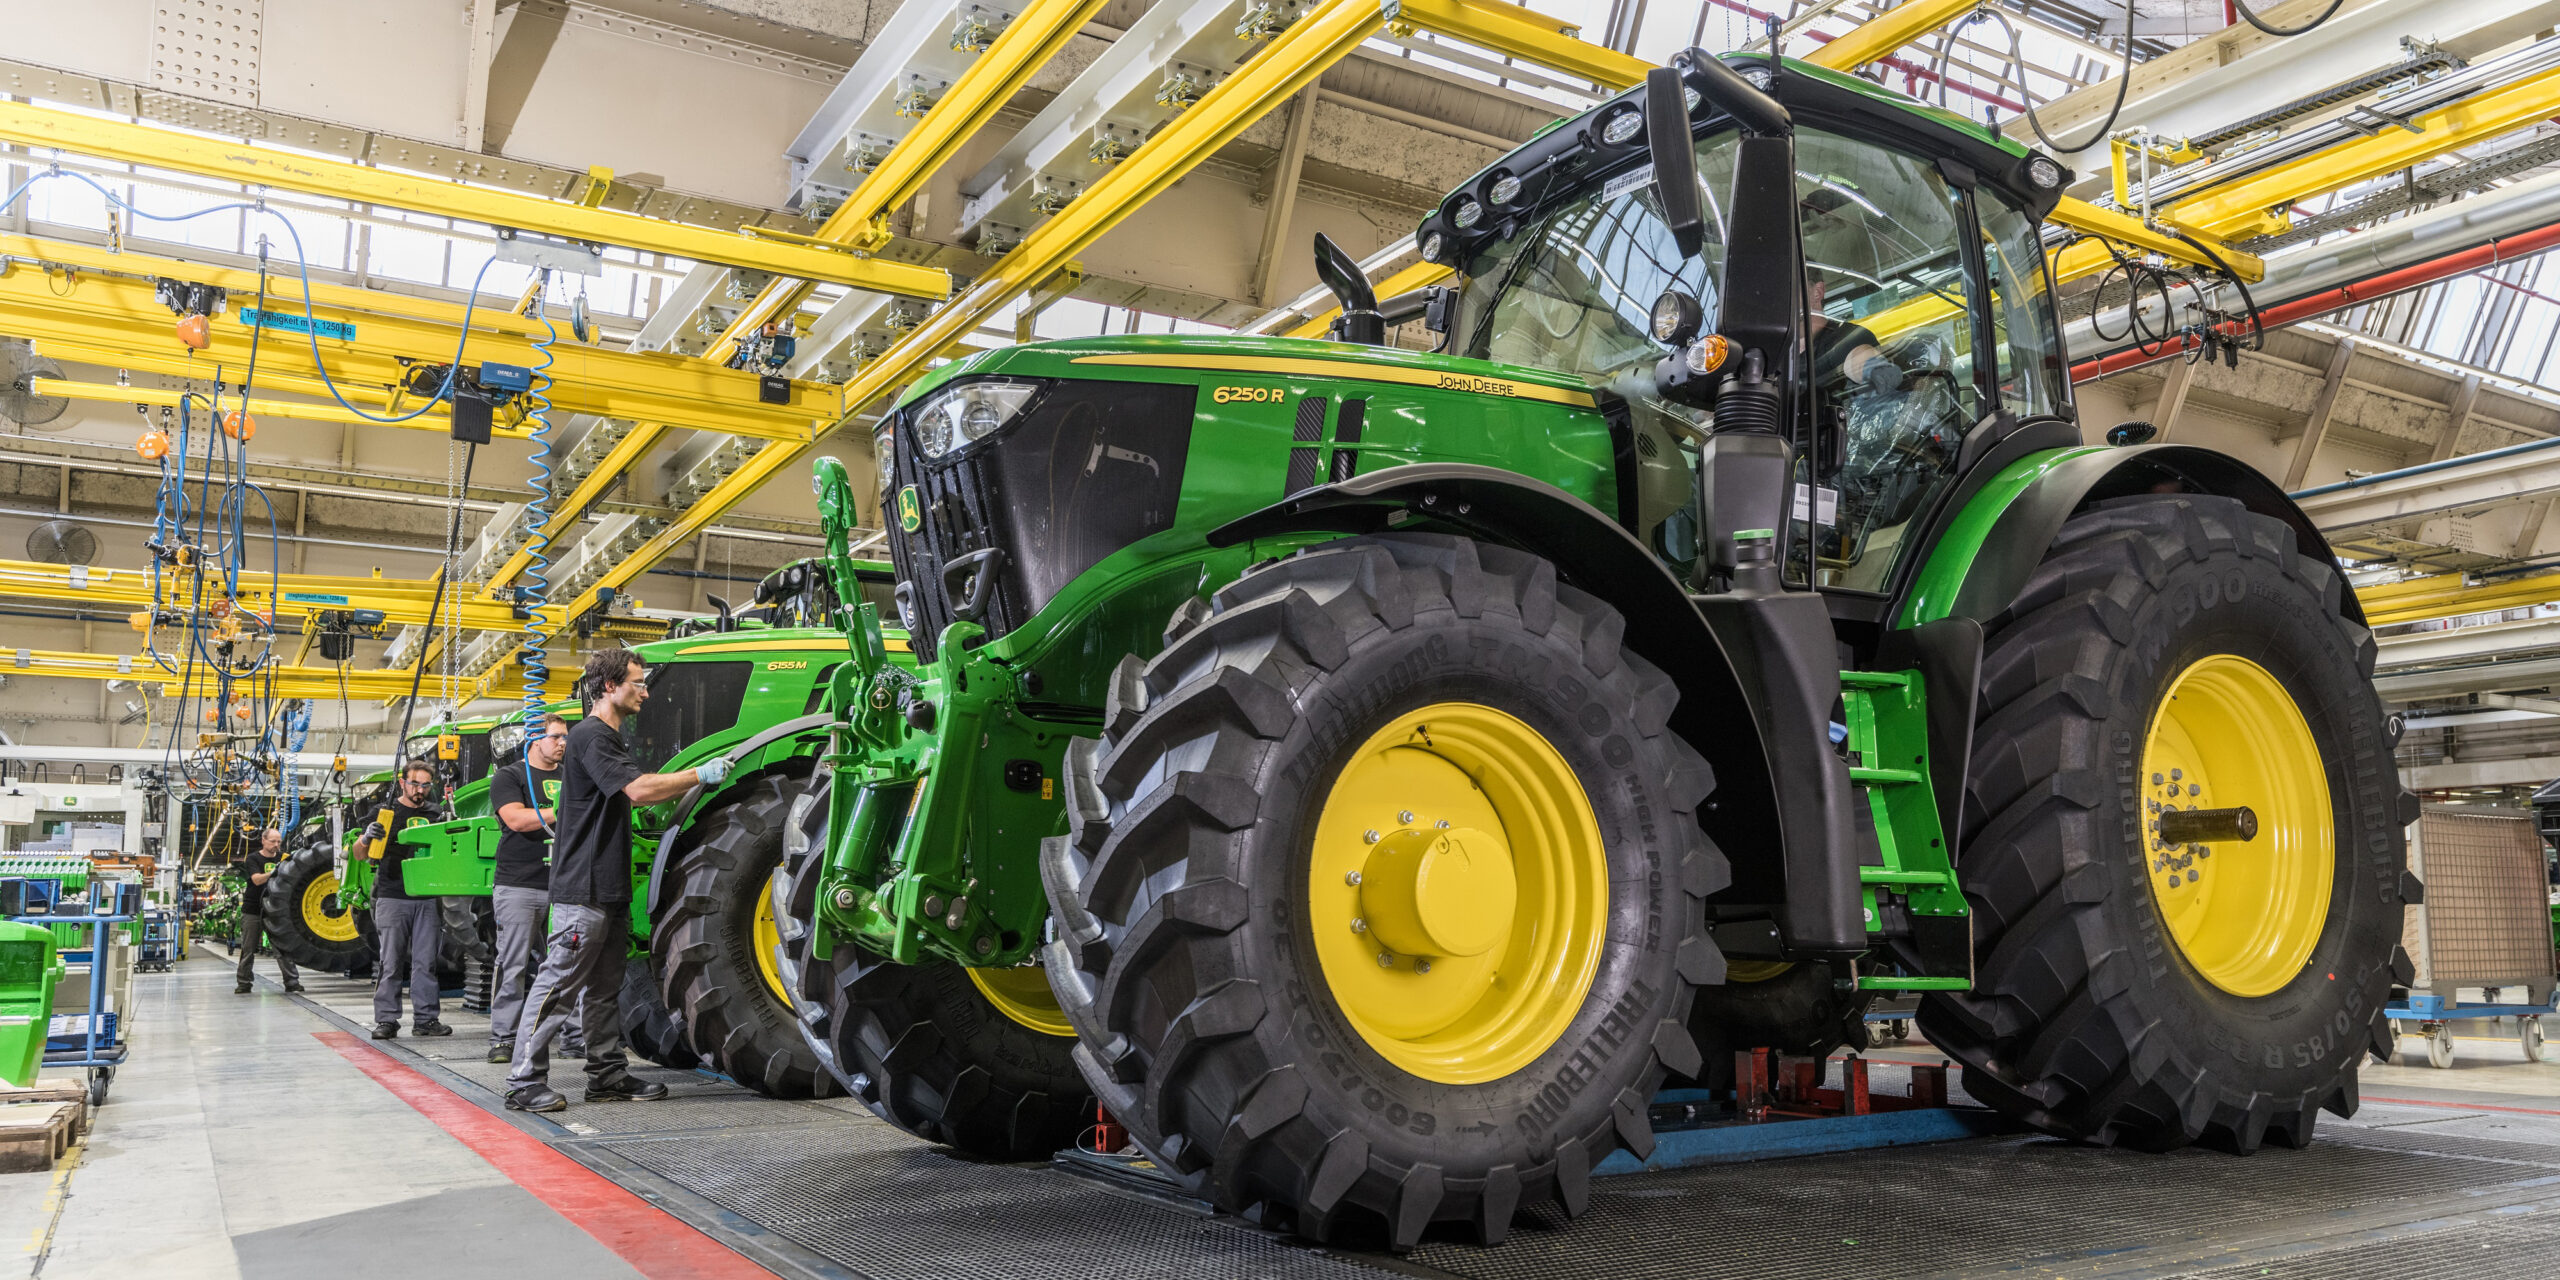
<svg viewBox="0 0 2560 1280"><path fill-rule="evenodd" d="M896 965L840 942L809 955L827 840L819 778L794 804L776 881L778 968L812 1052L870 1111L983 1160L1047 1160L1093 1126L1093 1091L1037 968Z"/></svg>

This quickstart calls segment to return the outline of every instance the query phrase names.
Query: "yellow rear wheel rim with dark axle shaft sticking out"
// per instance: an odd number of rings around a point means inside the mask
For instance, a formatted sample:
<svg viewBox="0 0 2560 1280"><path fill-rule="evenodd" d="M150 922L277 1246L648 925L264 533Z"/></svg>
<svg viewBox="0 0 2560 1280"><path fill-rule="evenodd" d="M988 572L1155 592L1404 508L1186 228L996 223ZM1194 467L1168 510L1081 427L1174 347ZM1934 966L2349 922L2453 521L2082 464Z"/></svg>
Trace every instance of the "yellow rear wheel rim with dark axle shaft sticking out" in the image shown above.
<svg viewBox="0 0 2560 1280"><path fill-rule="evenodd" d="M2232 996L2281 991L2330 919L2337 824L2312 724L2263 666L2217 653L2168 686L2143 737L2143 858L2168 937ZM2258 817L2237 842L2173 845L2171 809Z"/></svg>

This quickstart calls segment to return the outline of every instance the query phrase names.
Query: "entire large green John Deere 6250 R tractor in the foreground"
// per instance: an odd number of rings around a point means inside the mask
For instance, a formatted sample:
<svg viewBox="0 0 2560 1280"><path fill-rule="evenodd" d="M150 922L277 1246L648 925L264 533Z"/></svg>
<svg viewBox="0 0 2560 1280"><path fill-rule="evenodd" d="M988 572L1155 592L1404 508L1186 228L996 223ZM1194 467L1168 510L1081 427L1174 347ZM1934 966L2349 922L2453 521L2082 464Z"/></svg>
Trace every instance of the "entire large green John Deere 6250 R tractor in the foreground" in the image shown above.
<svg viewBox="0 0 2560 1280"><path fill-rule="evenodd" d="M1690 51L1452 192L1452 289L1318 246L1336 340L922 379L916 668L852 614L794 837L837 1070L973 1147L1091 1088L1198 1196L1398 1247L1580 1213L1702 1047L1879 991L2048 1134L2350 1114L2417 893L2373 640L2276 484L2084 440L2066 179Z"/></svg>

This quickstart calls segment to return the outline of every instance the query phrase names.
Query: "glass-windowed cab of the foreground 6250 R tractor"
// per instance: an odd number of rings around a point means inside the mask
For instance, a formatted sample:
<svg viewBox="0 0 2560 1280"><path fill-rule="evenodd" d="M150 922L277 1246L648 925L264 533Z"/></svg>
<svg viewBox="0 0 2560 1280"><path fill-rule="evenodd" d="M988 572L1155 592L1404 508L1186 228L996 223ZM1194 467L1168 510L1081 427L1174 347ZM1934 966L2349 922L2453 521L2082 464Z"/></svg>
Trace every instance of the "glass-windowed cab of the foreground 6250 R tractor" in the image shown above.
<svg viewBox="0 0 2560 1280"><path fill-rule="evenodd" d="M1705 61L1684 64L1684 82ZM1623 402L1633 532L1687 573L1715 404L1679 389L1715 371L1656 379L1656 366L1690 351L1736 358L1720 320L1795 310L1784 579L1889 594L1910 561L1902 548L1920 543L1915 527L1984 438L2071 417L2038 243L2063 172L1851 77L1769 59L1733 67L1789 118L1792 192L1772 205L1795 223L1800 284L1772 271L1777 243L1728 243L1733 205L1748 200L1738 169L1751 128L1695 87L1677 123L1702 218L1695 248L1679 243L1633 90L1513 151L1423 220L1423 253L1459 274L1449 351L1572 374Z"/></svg>

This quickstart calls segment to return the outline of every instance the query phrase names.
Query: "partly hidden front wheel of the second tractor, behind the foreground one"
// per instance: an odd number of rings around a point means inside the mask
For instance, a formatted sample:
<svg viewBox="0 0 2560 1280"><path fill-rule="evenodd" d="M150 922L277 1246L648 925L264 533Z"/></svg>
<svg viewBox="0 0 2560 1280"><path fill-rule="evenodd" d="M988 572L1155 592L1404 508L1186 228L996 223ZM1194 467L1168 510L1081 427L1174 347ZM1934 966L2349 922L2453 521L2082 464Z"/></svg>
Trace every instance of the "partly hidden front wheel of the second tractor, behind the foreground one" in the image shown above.
<svg viewBox="0 0 2560 1280"><path fill-rule="evenodd" d="M760 776L694 817L696 837L666 868L650 955L658 991L712 1070L768 1098L829 1098L773 968L773 873L783 860L788 783Z"/></svg>

